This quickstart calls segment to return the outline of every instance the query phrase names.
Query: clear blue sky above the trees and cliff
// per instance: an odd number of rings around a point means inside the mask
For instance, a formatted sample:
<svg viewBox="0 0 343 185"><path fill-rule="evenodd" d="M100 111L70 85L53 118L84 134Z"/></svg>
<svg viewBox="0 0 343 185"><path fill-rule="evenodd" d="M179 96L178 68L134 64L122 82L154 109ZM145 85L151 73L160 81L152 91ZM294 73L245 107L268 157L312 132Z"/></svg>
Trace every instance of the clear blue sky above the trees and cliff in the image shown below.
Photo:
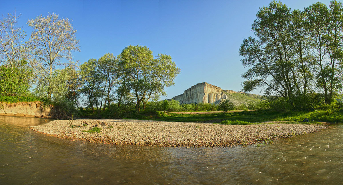
<svg viewBox="0 0 343 185"><path fill-rule="evenodd" d="M301 9L316 0L283 0L293 9ZM329 4L329 1L321 2ZM240 44L253 36L251 24L259 7L270 0L208 1L1 1L0 14L16 10L22 14L18 24L31 35L28 19L56 13L72 20L78 30L81 52L73 53L83 63L105 53L118 55L128 45L146 45L168 54L181 73L175 86L167 88L167 97L182 94L200 82L222 89L239 91L241 74L246 71L238 55ZM259 93L254 91L253 93Z"/></svg>

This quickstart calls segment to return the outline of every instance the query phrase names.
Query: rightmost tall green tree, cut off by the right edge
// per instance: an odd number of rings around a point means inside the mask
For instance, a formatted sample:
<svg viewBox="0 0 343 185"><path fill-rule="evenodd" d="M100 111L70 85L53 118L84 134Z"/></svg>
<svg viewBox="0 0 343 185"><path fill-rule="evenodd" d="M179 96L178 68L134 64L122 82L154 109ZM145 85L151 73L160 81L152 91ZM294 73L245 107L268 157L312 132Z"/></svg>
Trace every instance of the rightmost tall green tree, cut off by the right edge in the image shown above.
<svg viewBox="0 0 343 185"><path fill-rule="evenodd" d="M316 62L317 87L324 91L325 103L329 104L334 100L336 91L342 90L342 3L331 1L328 8L317 2L306 8L305 12Z"/></svg>

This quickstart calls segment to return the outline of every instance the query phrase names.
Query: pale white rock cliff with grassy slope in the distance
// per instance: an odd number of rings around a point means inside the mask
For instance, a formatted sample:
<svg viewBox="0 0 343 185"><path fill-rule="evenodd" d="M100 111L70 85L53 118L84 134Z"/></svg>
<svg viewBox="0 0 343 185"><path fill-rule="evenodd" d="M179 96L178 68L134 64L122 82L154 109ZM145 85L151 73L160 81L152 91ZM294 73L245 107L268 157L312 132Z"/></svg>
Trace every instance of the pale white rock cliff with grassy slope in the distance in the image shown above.
<svg viewBox="0 0 343 185"><path fill-rule="evenodd" d="M231 95L232 94L232 95ZM242 98L236 97L236 94L242 94ZM223 99L228 99L236 105L245 103L245 96L251 97L252 94L236 92L232 90L223 90L215 85L202 82L188 88L183 94L173 97L173 100L182 103L215 103L218 104ZM260 95L256 95L260 96Z"/></svg>

